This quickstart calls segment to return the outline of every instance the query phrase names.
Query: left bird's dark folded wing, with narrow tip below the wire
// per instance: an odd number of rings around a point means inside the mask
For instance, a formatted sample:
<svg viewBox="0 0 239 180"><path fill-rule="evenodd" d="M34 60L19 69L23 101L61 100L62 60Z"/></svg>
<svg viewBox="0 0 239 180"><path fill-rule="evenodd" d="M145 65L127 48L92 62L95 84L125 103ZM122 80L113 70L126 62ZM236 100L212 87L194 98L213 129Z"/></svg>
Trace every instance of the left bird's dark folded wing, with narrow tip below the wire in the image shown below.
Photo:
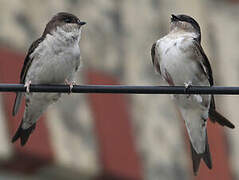
<svg viewBox="0 0 239 180"><path fill-rule="evenodd" d="M24 60L24 64L23 64L22 71L21 71L21 76L20 76L21 84L25 83L27 71L32 63L32 60L33 60L33 58L30 58L30 56L31 56L32 52L35 50L35 48L43 41L43 39L44 38L41 37L41 38L37 39L36 41L34 41L28 50L28 53ZM23 95L23 93L20 93L20 92L16 93L16 99L15 99L13 110L12 110L13 116L15 116L19 110L19 107L21 105L22 95Z"/></svg>

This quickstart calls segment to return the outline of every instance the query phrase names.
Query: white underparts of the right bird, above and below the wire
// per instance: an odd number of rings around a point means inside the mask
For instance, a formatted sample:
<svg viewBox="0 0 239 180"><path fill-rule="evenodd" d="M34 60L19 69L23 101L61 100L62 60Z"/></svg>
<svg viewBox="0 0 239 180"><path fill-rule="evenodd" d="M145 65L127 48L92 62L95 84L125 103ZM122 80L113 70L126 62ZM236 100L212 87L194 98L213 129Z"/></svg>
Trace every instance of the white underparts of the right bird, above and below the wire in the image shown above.
<svg viewBox="0 0 239 180"><path fill-rule="evenodd" d="M160 70L163 77L170 74L174 85L209 85L207 77L199 79L197 60L192 59L194 33L172 33L157 41ZM199 57L200 58L200 57ZM210 105L210 95L174 95L185 120L191 143L197 153L205 151L206 122Z"/></svg>

